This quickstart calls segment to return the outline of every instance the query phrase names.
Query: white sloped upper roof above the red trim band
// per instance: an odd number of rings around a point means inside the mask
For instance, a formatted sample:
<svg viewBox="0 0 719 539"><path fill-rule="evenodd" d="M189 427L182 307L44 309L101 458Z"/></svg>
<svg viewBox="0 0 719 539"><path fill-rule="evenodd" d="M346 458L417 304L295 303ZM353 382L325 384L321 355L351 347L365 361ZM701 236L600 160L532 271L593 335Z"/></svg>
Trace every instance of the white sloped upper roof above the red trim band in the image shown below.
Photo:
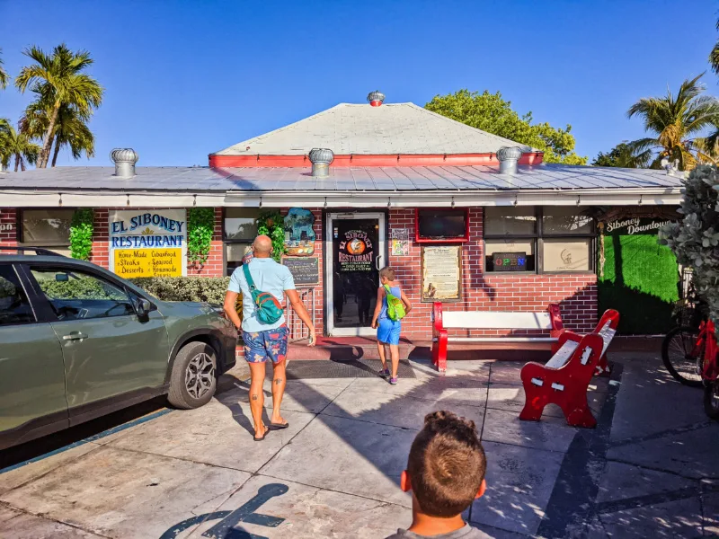
<svg viewBox="0 0 719 539"><path fill-rule="evenodd" d="M312 148L335 155L495 154L502 146L538 151L414 103L340 103L214 155L306 155Z"/></svg>

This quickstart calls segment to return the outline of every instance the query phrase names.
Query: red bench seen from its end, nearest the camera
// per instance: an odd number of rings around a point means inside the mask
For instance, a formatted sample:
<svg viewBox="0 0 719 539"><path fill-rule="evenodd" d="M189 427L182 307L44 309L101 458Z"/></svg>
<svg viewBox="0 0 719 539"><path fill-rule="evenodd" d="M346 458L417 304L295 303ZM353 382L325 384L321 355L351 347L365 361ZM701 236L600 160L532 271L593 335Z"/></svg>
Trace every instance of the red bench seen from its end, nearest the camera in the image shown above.
<svg viewBox="0 0 719 539"><path fill-rule="evenodd" d="M610 309L601 317L599 331L583 337L563 331L557 351L546 365L529 362L522 367L525 403L519 419L538 421L545 406L553 403L564 411L567 423L573 427L596 427L597 420L587 402L587 389L600 359L606 362L618 323L619 314Z"/></svg>

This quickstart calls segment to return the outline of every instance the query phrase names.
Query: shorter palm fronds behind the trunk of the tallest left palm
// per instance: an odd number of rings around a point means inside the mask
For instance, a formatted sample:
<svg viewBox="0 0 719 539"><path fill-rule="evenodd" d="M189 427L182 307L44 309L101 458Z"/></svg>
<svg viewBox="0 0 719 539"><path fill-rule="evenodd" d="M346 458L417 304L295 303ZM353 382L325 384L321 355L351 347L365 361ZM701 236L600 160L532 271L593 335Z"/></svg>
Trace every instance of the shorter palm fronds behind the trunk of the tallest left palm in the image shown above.
<svg viewBox="0 0 719 539"><path fill-rule="evenodd" d="M25 110L25 115L20 119L20 129L31 138L41 138L47 132L49 118L52 113L52 102L38 99L31 102ZM51 142L55 144L52 155L52 164L58 163L60 149L69 146L74 159L79 159L82 154L93 157L95 150L95 139L93 132L87 127L86 122L90 119L87 114L82 114L76 107L63 104L58 111L58 120L51 135Z"/></svg>

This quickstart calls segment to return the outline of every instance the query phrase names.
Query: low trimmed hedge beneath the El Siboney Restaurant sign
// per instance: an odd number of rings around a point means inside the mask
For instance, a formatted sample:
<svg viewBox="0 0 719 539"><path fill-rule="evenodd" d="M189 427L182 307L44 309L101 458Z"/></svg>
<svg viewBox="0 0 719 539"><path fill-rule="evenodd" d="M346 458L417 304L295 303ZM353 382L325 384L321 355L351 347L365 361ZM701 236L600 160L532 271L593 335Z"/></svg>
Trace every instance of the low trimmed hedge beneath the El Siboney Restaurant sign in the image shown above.
<svg viewBox="0 0 719 539"><path fill-rule="evenodd" d="M163 301L225 302L228 277L145 277L129 281Z"/></svg>

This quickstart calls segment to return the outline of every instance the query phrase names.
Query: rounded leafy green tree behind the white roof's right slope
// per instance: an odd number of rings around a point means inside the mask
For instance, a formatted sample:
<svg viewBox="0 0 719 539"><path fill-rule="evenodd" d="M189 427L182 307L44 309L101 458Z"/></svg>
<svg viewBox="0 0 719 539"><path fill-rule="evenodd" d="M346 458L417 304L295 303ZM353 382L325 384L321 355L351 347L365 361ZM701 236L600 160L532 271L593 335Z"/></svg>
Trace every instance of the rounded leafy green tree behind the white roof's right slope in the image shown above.
<svg viewBox="0 0 719 539"><path fill-rule="evenodd" d="M447 95L435 95L424 108L437 112L473 128L482 129L519 144L532 146L544 152L546 163L586 164L587 157L576 155L576 141L566 129L553 128L548 123L532 125L532 113L523 116L511 109L511 102L502 99L502 93L470 92L459 90Z"/></svg>

